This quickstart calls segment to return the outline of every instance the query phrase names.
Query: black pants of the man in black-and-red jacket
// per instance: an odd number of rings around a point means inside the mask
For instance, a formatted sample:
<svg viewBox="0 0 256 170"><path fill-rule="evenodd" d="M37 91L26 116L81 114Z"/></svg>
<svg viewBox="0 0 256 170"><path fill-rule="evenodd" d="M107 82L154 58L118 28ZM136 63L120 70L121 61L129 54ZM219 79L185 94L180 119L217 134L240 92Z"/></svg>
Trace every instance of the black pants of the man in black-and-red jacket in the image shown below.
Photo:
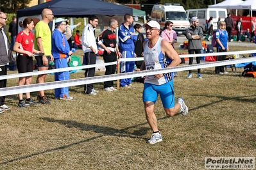
<svg viewBox="0 0 256 170"><path fill-rule="evenodd" d="M110 54L107 54L107 51L105 50L104 54L103 54L103 59L105 61L105 63L111 63L116 61L116 52L111 52ZM109 65L106 66L106 72L105 75L110 75L110 74L114 74L115 73L115 65ZM105 81L104 82L104 88L110 88L114 86L114 81Z"/></svg>

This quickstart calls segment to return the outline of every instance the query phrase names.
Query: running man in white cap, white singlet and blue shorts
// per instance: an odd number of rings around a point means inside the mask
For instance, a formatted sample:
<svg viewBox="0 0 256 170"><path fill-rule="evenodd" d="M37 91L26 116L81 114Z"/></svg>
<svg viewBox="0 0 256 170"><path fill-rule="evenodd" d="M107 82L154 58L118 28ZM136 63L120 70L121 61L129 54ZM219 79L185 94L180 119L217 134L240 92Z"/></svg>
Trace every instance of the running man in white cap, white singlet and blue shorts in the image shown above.
<svg viewBox="0 0 256 170"><path fill-rule="evenodd" d="M177 52L171 47L169 42L159 37L160 25L158 22L151 20L147 24L144 24L143 27L146 28L146 37L148 38L148 41L143 43L143 46L145 47L144 62L142 63L141 68L137 68L135 71L169 68L179 65L181 60ZM183 116L186 116L189 112L183 98L178 98L178 102L175 104L173 73L159 73L146 76L142 99L144 102L146 119L149 127L153 131L151 138L148 140L149 144L162 142L162 135L158 131L157 117L154 113L158 94L161 97L164 111L168 116L174 116L178 112L181 112Z"/></svg>

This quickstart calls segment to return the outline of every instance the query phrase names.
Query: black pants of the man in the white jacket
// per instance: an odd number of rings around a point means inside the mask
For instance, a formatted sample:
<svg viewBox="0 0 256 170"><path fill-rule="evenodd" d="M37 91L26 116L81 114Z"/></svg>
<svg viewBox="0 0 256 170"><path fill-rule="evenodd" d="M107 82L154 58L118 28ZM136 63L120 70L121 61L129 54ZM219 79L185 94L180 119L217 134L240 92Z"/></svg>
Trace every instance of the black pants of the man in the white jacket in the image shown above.
<svg viewBox="0 0 256 170"><path fill-rule="evenodd" d="M95 65L96 64L96 54L94 52L85 53L85 65ZM85 77L94 77L95 67L85 69ZM89 94L92 92L93 84L85 84L85 93Z"/></svg>

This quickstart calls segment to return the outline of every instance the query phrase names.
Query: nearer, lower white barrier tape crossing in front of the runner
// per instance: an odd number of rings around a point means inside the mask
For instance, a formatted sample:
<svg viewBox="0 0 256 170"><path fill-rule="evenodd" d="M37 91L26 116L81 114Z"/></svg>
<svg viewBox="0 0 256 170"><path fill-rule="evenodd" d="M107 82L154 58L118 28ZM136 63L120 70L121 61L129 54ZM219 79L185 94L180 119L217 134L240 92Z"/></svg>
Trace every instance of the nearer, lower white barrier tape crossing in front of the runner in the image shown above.
<svg viewBox="0 0 256 170"><path fill-rule="evenodd" d="M64 88L69 86L79 86L83 84L96 83L96 82L114 81L117 79L142 77L145 75L155 75L159 73L181 72L185 70L209 68L213 66L234 65L237 63L247 63L247 62L253 62L253 61L256 61L256 58L230 59L225 61L202 63L198 65L175 66L172 68L162 68L157 70L147 70L147 71L141 71L141 72L119 73L119 74L113 74L113 75L102 75L102 76L88 77L88 78L81 78L81 79L71 79L68 81L56 81L56 82L46 82L41 84L31 84L31 85L25 85L25 86L14 86L9 88L0 88L0 96L15 95L19 93L26 93L26 92L46 90L46 89Z"/></svg>

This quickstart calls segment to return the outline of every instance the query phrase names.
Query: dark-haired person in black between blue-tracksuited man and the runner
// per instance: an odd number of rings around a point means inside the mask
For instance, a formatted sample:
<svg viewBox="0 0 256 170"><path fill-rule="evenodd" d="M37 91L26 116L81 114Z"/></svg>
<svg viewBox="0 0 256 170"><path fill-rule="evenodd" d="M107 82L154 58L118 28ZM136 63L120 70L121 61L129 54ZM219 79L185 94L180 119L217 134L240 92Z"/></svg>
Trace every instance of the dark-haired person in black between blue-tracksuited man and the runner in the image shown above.
<svg viewBox="0 0 256 170"><path fill-rule="evenodd" d="M145 41L144 36L141 33L141 24L134 25L135 33L137 34L137 41L135 42L135 55L137 58L142 58L144 56L142 43ZM136 61L137 68L140 68L142 61Z"/></svg>

